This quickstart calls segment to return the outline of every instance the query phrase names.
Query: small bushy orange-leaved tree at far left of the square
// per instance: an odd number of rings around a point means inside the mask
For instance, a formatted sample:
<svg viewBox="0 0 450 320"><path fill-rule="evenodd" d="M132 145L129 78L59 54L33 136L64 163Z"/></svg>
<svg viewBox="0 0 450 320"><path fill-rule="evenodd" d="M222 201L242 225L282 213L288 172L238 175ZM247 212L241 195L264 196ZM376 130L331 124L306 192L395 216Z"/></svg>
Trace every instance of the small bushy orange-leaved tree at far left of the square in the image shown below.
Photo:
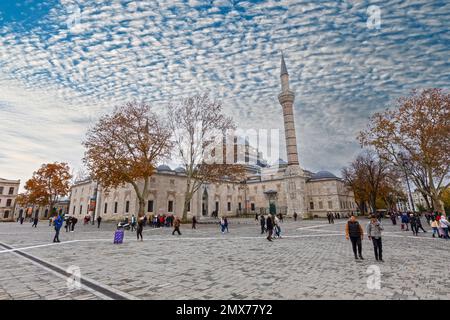
<svg viewBox="0 0 450 320"><path fill-rule="evenodd" d="M69 166L66 163L46 163L33 173L31 179L25 183L25 194L19 197L22 204L49 206L50 212L56 202L69 193Z"/></svg>

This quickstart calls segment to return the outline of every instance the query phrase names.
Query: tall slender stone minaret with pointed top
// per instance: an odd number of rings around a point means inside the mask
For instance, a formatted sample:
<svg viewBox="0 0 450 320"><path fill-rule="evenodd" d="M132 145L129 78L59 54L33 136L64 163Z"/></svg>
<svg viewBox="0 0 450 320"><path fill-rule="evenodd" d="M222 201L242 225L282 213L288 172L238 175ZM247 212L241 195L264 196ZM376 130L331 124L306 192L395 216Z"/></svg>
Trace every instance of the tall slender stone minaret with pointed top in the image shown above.
<svg viewBox="0 0 450 320"><path fill-rule="evenodd" d="M278 101L283 107L284 133L286 138L286 151L288 157L288 167L298 166L297 138L295 135L295 122L293 104L295 94L289 89L289 74L284 62L283 53L281 53L281 92L278 95Z"/></svg>

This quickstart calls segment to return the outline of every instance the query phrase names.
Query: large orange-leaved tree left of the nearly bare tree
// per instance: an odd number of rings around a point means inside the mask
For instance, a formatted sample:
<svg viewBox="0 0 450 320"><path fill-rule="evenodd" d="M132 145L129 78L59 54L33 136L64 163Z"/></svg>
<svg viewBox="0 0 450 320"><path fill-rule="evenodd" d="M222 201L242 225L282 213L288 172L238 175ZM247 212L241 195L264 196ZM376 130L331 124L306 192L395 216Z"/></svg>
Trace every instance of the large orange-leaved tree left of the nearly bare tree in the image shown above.
<svg viewBox="0 0 450 320"><path fill-rule="evenodd" d="M105 191L129 183L144 215L150 177L159 160L168 156L171 132L145 103L130 102L100 118L89 129L83 159L91 177Z"/></svg>

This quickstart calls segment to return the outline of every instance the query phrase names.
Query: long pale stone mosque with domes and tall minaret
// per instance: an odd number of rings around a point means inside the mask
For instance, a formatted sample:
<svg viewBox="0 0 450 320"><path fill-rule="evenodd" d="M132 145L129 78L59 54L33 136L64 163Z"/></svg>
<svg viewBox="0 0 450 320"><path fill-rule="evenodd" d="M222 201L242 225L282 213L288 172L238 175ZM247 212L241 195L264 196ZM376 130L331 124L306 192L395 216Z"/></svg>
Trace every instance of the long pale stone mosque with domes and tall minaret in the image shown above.
<svg viewBox="0 0 450 320"><path fill-rule="evenodd" d="M300 167L295 132L293 102L295 94L289 87L289 74L281 59L281 92L287 162L279 160L269 166L260 153L252 150L257 161L246 163L247 178L241 183L223 180L202 185L190 203L188 215L199 219L245 213L283 213L299 217L324 217L327 212L345 214L357 211L353 193L343 181L327 171L312 173ZM248 150L249 148L247 148ZM149 215L181 216L184 205L186 177L183 168L160 165L151 177L145 212ZM78 217L101 215L105 220L119 220L138 212L138 201L131 185L106 193L101 184L81 181L71 190L69 213Z"/></svg>

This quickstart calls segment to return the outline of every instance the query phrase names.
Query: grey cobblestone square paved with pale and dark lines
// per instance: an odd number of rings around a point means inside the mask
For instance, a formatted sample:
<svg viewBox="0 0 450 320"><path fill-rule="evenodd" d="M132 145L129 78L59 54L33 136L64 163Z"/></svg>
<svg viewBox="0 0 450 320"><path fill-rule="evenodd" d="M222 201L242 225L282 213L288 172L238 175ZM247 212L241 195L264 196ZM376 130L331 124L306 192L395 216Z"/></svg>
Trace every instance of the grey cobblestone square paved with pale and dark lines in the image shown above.
<svg viewBox="0 0 450 320"><path fill-rule="evenodd" d="M146 227L143 242L126 231L121 245L113 224L62 229L53 244L45 222L2 223L0 299L449 299L450 241L383 223L384 263L367 238L365 260L353 259L343 219L288 220L273 242L253 219L231 219L226 234L211 224L183 225L181 236ZM380 289L367 284L373 266ZM73 268L81 288L62 274Z"/></svg>

